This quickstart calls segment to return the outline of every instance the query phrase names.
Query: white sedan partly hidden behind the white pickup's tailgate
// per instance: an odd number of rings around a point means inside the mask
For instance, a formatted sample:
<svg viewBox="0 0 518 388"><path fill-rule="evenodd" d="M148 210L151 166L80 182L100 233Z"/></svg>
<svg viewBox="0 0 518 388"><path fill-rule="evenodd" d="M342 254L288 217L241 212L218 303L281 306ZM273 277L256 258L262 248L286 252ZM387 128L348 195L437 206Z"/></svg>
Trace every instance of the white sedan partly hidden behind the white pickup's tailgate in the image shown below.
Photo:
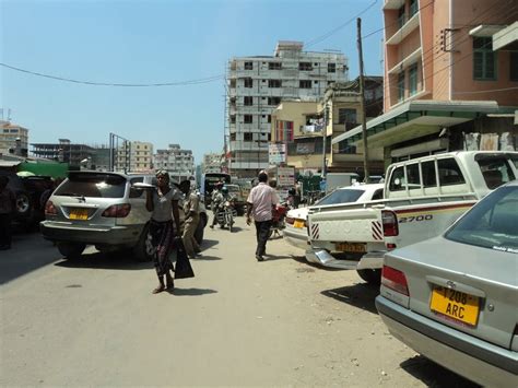
<svg viewBox="0 0 518 388"><path fill-rule="evenodd" d="M350 202L368 202L384 198L382 184L357 184L340 187L323 197L315 205L332 205ZM309 208L292 209L286 214L286 227L283 230L284 239L296 248L307 249L309 239L306 230Z"/></svg>

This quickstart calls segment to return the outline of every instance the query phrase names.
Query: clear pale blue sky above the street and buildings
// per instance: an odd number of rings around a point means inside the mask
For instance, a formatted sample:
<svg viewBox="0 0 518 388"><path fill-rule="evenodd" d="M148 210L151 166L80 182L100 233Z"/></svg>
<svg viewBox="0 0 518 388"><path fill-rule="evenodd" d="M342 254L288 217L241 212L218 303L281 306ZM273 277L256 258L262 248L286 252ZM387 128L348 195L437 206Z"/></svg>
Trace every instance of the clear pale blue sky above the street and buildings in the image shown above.
<svg viewBox="0 0 518 388"><path fill-rule="evenodd" d="M305 50L340 50L358 75L361 12L365 73L381 75L384 0L0 0L0 108L30 129L30 143L108 144L109 133L178 143L199 164L221 152L224 81L156 84L223 77L233 57L273 55L278 40ZM0 116L1 119L1 116ZM31 146L30 146L31 149Z"/></svg>

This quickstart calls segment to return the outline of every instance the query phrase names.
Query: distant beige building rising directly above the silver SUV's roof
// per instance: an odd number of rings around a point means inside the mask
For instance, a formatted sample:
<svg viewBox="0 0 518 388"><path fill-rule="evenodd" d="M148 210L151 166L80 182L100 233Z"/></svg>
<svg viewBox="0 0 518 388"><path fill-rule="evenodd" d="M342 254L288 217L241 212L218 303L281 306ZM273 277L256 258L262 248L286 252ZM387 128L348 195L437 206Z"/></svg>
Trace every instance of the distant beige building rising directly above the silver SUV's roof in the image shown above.
<svg viewBox="0 0 518 388"><path fill-rule="evenodd" d="M145 173L153 168L153 144L143 141L125 141L117 149L115 171Z"/></svg>

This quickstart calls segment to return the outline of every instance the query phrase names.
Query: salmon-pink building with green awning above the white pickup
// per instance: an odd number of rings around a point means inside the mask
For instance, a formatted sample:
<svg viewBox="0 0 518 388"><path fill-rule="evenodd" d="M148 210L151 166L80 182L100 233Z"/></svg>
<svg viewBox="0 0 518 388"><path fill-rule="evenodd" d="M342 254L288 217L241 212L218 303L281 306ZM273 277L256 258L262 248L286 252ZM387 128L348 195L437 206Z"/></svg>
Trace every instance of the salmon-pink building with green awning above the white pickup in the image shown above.
<svg viewBox="0 0 518 388"><path fill-rule="evenodd" d="M385 0L385 113L367 122L386 164L518 145L517 4ZM357 127L333 139L362 144Z"/></svg>

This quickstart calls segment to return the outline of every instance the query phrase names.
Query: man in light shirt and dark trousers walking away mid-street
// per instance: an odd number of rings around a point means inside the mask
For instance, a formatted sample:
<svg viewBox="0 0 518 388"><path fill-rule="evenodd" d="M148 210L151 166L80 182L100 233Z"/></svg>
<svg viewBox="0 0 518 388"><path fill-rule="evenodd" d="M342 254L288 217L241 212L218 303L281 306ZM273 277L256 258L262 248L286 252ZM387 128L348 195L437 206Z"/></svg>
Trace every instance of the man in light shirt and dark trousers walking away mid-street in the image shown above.
<svg viewBox="0 0 518 388"><path fill-rule="evenodd" d="M256 259L263 260L266 255L268 235L272 224L272 207L279 204L279 197L273 188L268 185L268 174L258 175L259 184L250 190L247 199L246 223L250 225L251 215L256 224Z"/></svg>

